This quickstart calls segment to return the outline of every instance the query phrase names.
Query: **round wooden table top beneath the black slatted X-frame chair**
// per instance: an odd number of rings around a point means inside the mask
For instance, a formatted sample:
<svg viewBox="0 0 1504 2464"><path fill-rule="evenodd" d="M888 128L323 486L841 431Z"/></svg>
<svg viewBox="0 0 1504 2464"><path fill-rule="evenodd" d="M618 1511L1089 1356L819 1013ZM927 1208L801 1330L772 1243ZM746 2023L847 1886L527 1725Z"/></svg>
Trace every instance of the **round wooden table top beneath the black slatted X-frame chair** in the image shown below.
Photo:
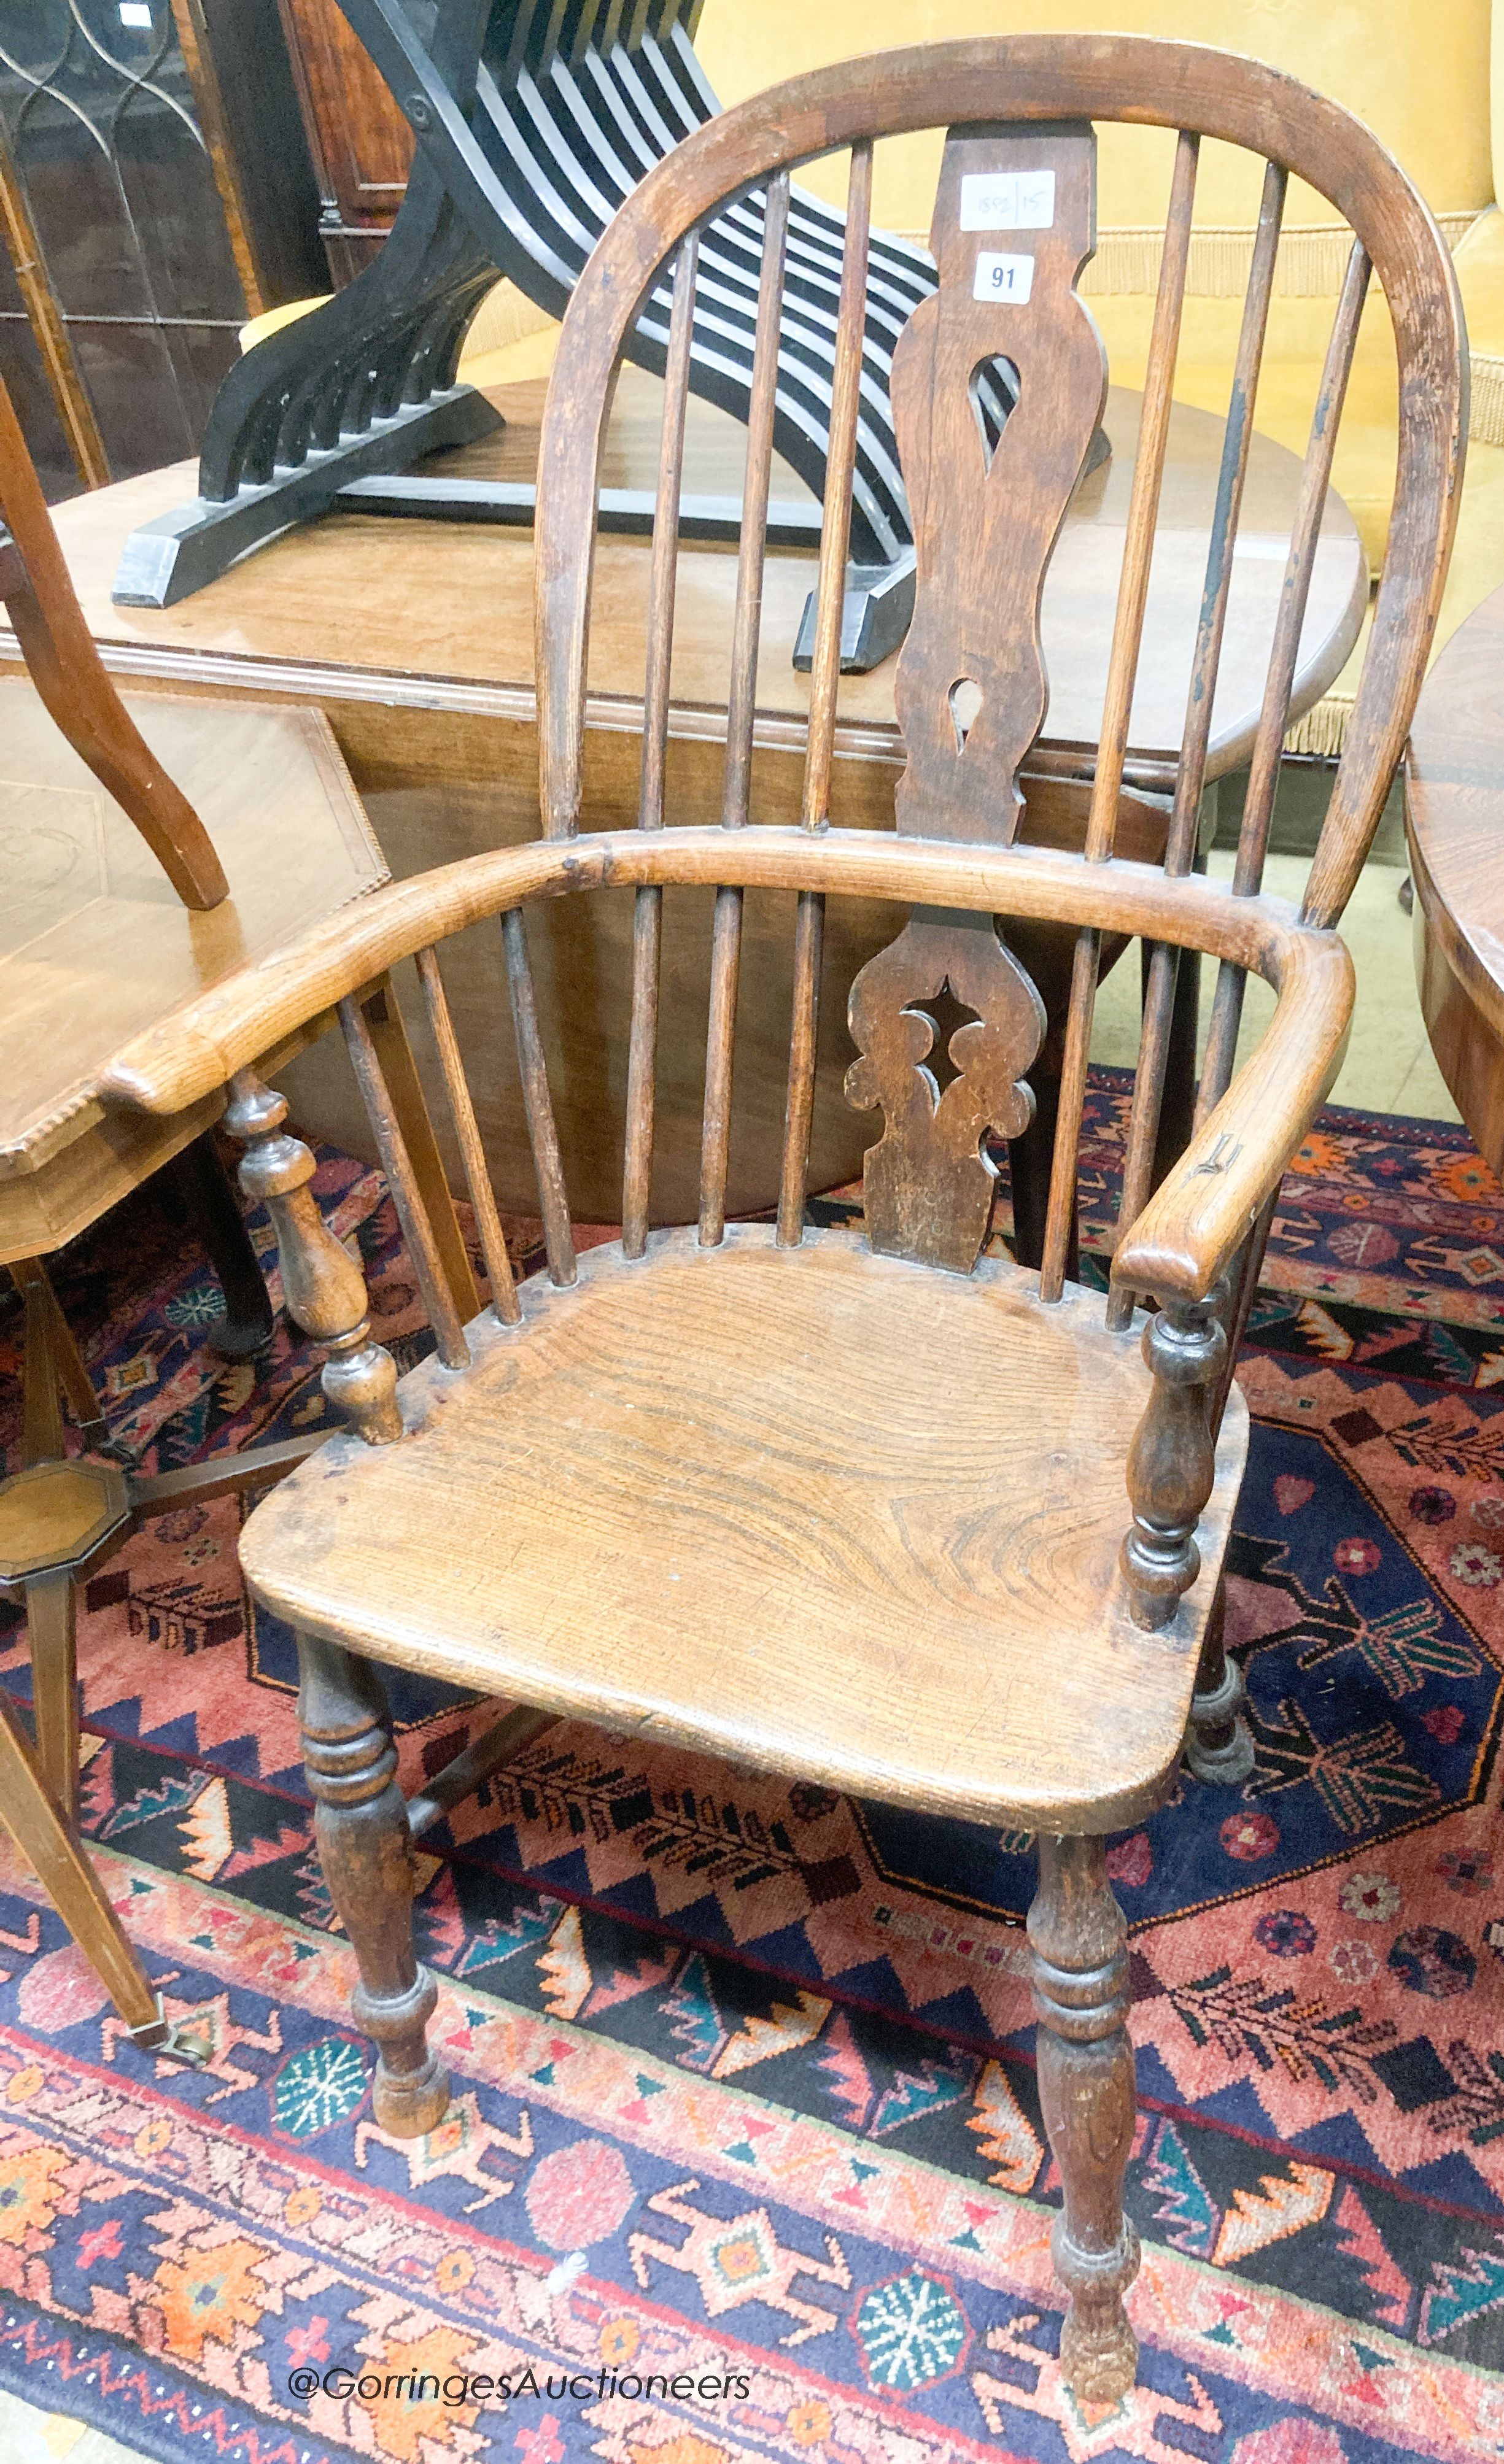
<svg viewBox="0 0 1504 2464"><path fill-rule="evenodd" d="M498 387L491 399L508 426L461 453L436 456L427 468L471 478L533 478L542 394L542 382ZM653 485L658 402L653 377L631 367L621 372L604 485ZM1139 397L1114 389L1105 426L1112 458L1077 488L1045 584L1050 744L1095 747L1102 719ZM1220 419L1176 404L1132 717L1132 749L1146 761L1174 759L1181 744L1220 448ZM713 404L690 402L685 490L740 493L742 458L742 426ZM1253 744L1299 473L1299 461L1285 446L1253 439L1213 707L1213 779L1245 761ZM454 710L523 722L533 717L528 530L330 515L274 540L180 606L111 606L111 579L126 535L192 498L195 485L195 466L175 463L76 498L57 513L84 611L116 673L323 700L340 737L335 702L360 692L387 710ZM787 466L777 466L774 498L809 503L809 490ZM646 577L644 540L602 537L589 668L592 717L602 727L631 732L641 712ZM759 742L769 749L794 749L804 734L809 678L794 673L791 648L811 586L814 557L769 552L757 678ZM1329 495L1294 715L1309 710L1344 665L1366 594L1359 535L1341 498ZM680 552L673 655L678 737L715 739L725 729L732 596L732 549ZM893 673L895 660L888 658L870 675L841 680L841 754L902 761ZM355 749L345 749L360 774Z"/></svg>

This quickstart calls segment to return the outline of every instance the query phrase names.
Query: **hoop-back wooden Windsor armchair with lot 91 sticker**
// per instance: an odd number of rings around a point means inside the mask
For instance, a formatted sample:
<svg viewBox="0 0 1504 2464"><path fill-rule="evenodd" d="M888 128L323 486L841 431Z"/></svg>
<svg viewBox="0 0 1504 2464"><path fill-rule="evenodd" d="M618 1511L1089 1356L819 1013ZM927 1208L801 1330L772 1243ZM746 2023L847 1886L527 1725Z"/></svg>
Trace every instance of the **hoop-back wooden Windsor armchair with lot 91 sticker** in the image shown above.
<svg viewBox="0 0 1504 2464"><path fill-rule="evenodd" d="M1075 853L1023 845L1021 761L1043 712L1040 579L1095 431L1105 367L1075 278L1092 246L1095 118L1174 136L1154 352L1095 779ZM917 549L897 675L907 771L897 833L828 830L841 582L865 315L873 140L947 128L937 293L895 352L893 411ZM1164 862L1114 855L1154 549L1201 136L1267 158L1186 734ZM757 823L757 621L789 168L851 150L833 345L831 466L809 690L804 821ZM1260 338L1297 172L1354 227L1312 416L1238 870L1191 870L1218 648L1235 577ZM752 372L725 754L725 825L666 806L678 458L690 335L713 318L698 232L762 185L767 246ZM611 372L673 264L651 557L636 830L582 835L592 513ZM1260 894L1302 604L1371 274L1400 360L1398 495L1331 813L1299 914ZM1001 441L971 379L1006 355ZM1334 922L1393 776L1445 577L1465 362L1447 251L1396 163L1334 103L1248 59L1169 42L986 39L851 62L690 136L636 190L570 303L545 416L537 517L537 845L385 890L180 1013L111 1074L170 1111L229 1082L244 1185L271 1205L288 1306L325 1345L353 1432L244 1530L251 1587L301 1636L301 1725L333 1900L380 2045L377 2114L417 2134L449 2094L412 1951L409 1841L562 1715L732 1752L838 1789L1038 1833L1028 1919L1043 2117L1063 2178L1063 2370L1082 2397L1134 2375L1122 2210L1134 2122L1124 1922L1105 1833L1169 1791L1186 1732L1203 1769L1245 1745L1220 1653L1218 1570L1248 1414L1230 1380L1280 1175L1336 1072L1351 963ZM1050 793L1073 793L1053 781ZM1040 833L1036 833L1040 835ZM715 890L700 1220L651 1232L663 899ZM634 1013L621 1237L577 1249L550 1109L528 909L631 890ZM745 904L791 894L794 1013L774 1225L730 1225L732 1060ZM851 993L846 1092L883 1109L865 1237L806 1225L826 899L910 914ZM547 1276L513 1281L481 1163L439 946L501 919ZM1068 998L1040 1254L989 1239L994 1156L1031 1121L1045 1005L1028 973L1065 934ZM1149 951L1137 1092L1107 1301L1068 1279L1092 1000L1110 939ZM1220 961L1201 1116L1154 1188L1181 951ZM491 1301L461 1326L358 991L412 956L468 1165ZM1272 1023L1233 1074L1248 971ZM397 1380L358 1269L318 1220L311 1156L259 1050L340 1005L436 1358ZM565 1020L567 1030L567 1020ZM991 1141L991 1143L989 1143ZM1139 1301L1151 1296L1149 1313ZM520 1708L402 1801L380 1661Z"/></svg>

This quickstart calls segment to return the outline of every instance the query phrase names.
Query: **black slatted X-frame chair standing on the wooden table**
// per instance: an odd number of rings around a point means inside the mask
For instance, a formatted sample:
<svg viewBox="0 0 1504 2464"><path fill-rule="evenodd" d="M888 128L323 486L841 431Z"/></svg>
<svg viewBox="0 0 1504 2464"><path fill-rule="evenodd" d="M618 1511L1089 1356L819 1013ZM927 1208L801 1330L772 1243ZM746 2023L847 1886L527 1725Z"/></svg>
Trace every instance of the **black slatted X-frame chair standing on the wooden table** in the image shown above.
<svg viewBox="0 0 1504 2464"><path fill-rule="evenodd" d="M402 209L348 291L269 335L229 372L210 414L200 498L131 535L113 589L123 606L170 606L247 549L330 508L530 522L530 488L404 476L424 453L501 424L478 392L456 384L464 333L498 271L562 315L629 190L720 108L693 52L700 0L574 0L567 10L557 0L340 5L417 138ZM750 195L700 239L690 387L740 419L752 384L762 219L764 200ZM841 241L843 217L794 190L774 444L816 498L826 483ZM888 372L897 335L930 291L930 259L873 232L848 668L873 668L910 618L910 517ZM663 370L668 306L663 278L629 345L653 372ZM1011 370L994 362L984 416L1001 429L1011 407ZM688 535L735 540L737 522L732 498L685 500ZM602 527L651 530L651 498L604 498ZM816 540L816 508L772 508L772 545Z"/></svg>

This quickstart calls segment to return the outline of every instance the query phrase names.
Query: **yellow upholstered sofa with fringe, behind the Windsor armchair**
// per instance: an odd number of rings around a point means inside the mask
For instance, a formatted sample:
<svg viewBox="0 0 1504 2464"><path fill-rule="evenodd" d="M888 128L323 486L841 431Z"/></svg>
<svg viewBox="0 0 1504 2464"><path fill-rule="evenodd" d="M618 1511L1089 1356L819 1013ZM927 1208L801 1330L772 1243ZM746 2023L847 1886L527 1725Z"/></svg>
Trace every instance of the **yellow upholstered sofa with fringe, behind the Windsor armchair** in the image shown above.
<svg viewBox="0 0 1504 2464"><path fill-rule="evenodd" d="M1250 52L1356 111L1405 165L1452 244L1472 340L1472 448L1440 643L1504 582L1504 0L705 0L695 49L725 103L799 69L858 52L986 32L1132 32ZM1082 291L1112 377L1137 384L1149 342L1174 136L1105 128L1097 256ZM939 136L878 150L873 214L927 239ZM841 197L838 170L811 187ZM1196 241L1176 392L1223 411L1257 214L1250 155L1203 145ZM831 185L836 182L836 185ZM1255 424L1304 453L1317 372L1349 232L1292 185ZM264 323L256 325L264 330ZM464 372L496 384L542 375L555 330L510 283L481 306ZM1336 451L1336 488L1383 559L1396 461L1396 362L1388 315L1371 303ZM1356 655L1354 670L1356 673ZM1346 678L1307 712L1292 749L1341 749Z"/></svg>

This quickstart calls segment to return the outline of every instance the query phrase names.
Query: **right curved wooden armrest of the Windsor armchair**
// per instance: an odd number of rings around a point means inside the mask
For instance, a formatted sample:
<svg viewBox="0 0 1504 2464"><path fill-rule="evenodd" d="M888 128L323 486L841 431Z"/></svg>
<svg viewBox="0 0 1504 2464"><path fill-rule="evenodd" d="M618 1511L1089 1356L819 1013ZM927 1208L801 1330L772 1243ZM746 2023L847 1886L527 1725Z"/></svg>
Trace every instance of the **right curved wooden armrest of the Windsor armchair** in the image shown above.
<svg viewBox="0 0 1504 2464"><path fill-rule="evenodd" d="M1112 1281L1201 1301L1257 1222L1346 1052L1354 961L1334 931L1292 931L1270 968L1275 1018L1223 1101L1127 1227Z"/></svg>

